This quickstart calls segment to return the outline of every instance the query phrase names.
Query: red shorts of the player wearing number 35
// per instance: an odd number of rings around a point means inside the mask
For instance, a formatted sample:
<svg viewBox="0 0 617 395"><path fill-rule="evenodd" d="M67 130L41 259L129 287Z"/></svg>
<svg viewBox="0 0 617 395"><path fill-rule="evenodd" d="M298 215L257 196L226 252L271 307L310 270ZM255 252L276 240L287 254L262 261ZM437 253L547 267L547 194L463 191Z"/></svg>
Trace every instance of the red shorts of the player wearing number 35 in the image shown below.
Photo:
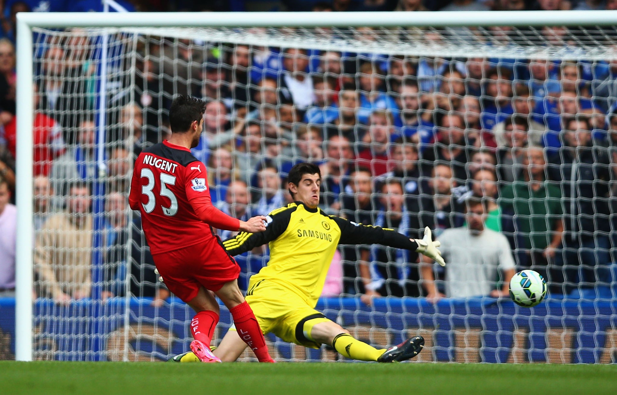
<svg viewBox="0 0 617 395"><path fill-rule="evenodd" d="M152 258L169 291L184 302L196 297L202 286L216 292L240 274L240 267L218 238Z"/></svg>

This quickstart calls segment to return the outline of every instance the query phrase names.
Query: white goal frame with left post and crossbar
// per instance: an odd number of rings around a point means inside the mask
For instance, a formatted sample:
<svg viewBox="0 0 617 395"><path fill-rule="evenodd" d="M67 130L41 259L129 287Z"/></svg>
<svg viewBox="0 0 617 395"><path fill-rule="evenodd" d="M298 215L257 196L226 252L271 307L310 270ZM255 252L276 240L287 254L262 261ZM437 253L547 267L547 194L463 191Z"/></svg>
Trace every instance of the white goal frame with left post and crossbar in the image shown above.
<svg viewBox="0 0 617 395"><path fill-rule="evenodd" d="M169 12L17 14L17 130L33 124L33 28L69 27L478 27L617 25L617 11ZM33 357L33 135L17 133L15 357Z"/></svg>

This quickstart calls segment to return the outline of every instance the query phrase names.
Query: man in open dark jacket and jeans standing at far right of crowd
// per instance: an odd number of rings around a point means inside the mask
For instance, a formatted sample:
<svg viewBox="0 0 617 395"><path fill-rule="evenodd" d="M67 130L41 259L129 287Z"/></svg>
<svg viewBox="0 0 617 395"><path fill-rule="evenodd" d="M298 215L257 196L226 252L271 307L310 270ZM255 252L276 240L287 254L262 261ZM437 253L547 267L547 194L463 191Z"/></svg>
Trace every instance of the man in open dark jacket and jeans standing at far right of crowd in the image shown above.
<svg viewBox="0 0 617 395"><path fill-rule="evenodd" d="M569 120L566 126L564 145L549 160L550 179L560 183L565 208L564 254L557 260L568 266L565 290L575 283L592 288L609 281L610 162L607 150L593 145L586 118Z"/></svg>

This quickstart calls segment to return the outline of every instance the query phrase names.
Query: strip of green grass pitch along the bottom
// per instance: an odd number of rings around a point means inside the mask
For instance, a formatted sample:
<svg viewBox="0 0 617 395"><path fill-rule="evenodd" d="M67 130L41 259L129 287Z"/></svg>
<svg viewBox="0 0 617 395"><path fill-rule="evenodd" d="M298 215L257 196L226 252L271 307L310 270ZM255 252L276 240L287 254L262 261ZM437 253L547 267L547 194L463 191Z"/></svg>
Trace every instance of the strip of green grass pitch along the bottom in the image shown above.
<svg viewBox="0 0 617 395"><path fill-rule="evenodd" d="M0 362L0 394L617 394L617 365Z"/></svg>

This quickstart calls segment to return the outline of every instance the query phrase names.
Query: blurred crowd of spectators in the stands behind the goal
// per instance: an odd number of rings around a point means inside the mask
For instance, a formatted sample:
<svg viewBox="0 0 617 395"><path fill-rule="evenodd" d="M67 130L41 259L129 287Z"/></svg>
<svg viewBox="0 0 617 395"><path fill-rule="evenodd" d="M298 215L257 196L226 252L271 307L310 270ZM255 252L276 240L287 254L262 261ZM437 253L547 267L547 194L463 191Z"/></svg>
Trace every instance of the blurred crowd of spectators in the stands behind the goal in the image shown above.
<svg viewBox="0 0 617 395"><path fill-rule="evenodd" d="M35 10L35 3L54 11L62 2L6 1L2 20L0 296L15 288L14 15ZM172 4L120 3L130 10ZM209 8L210 2L199 3L184 7ZM412 0L282 3L315 10L429 6ZM617 1L456 0L430 6L615 9ZM352 31L377 39L380 33ZM565 27L539 31L547 42L564 46L576 46L581 34ZM520 32L481 34L499 39ZM428 29L418 39L438 43L459 33ZM614 37L604 39L617 48ZM503 297L511 275L522 268L544 275L554 297L601 296L617 282L611 264L617 247L617 60L418 57L112 36L117 48L128 41L137 43L133 51L111 52L106 176L98 178L100 41L81 29L36 36L36 296L68 302L90 297L94 286L103 298L122 296L129 278L135 296L153 297L154 304L170 296L157 281L127 196L136 154L170 133L167 109L176 94L206 102L193 154L207 165L212 201L224 212L246 219L287 204L286 173L309 161L321 168L324 212L411 238L429 227L442 242L445 268L420 262L415 253L342 246L324 296L359 294L369 304L380 296ZM102 251L100 262L93 262L93 247ZM241 286L267 254L263 247L238 257ZM102 268L96 278L93 266Z"/></svg>

